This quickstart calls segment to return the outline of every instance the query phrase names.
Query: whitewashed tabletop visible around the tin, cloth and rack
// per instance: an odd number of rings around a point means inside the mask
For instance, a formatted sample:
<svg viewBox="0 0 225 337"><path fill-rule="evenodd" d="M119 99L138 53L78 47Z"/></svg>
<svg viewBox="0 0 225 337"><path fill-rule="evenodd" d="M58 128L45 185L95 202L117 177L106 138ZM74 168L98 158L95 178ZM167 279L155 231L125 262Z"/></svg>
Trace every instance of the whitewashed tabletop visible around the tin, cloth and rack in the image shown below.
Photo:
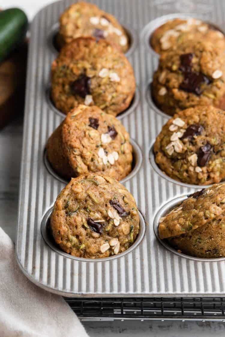
<svg viewBox="0 0 225 337"><path fill-rule="evenodd" d="M141 1L141 0L137 0ZM150 1L150 0L149 0ZM0 7L21 7L29 19L35 12L51 0L0 0ZM20 174L20 157L22 149L23 116L13 121L0 131L0 226L15 241L18 189ZM113 337L122 334L130 336L154 337L207 337L213 334L224 337L224 323L219 322L175 322L175 321L113 321L113 322L84 322L87 332L92 337Z"/></svg>

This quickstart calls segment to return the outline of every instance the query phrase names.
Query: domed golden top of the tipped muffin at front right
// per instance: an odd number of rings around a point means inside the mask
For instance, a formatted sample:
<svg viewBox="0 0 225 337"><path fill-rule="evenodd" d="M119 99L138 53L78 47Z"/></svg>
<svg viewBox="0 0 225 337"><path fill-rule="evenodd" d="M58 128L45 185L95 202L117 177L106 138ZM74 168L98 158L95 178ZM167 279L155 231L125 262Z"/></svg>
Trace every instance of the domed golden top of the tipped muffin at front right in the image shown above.
<svg viewBox="0 0 225 337"><path fill-rule="evenodd" d="M161 239L175 237L206 225L225 212L225 184L216 184L189 198L160 219Z"/></svg>

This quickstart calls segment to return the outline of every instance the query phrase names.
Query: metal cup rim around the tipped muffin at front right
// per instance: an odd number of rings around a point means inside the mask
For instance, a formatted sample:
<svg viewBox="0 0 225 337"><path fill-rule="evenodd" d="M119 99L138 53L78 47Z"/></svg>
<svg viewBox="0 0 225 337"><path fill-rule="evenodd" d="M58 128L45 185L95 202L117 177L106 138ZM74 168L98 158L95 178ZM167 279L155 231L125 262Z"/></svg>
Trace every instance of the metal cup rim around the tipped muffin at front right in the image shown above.
<svg viewBox="0 0 225 337"><path fill-rule="evenodd" d="M184 257L190 260L195 260L195 261L202 261L202 262L214 262L214 261L224 261L225 257L218 257L218 258L200 258L200 257L194 257L190 255L186 255L183 253L178 252L176 249L171 247L166 239L162 240L159 237L159 231L158 231L158 226L159 226L159 220L161 217L166 216L172 209L178 207L184 200L187 199L187 195L182 195L179 197L176 197L175 199L170 200L168 203L166 203L156 214L154 217L153 221L153 227L154 227L154 233L157 237L157 239L161 242L161 244L168 250L170 250L172 253Z"/></svg>

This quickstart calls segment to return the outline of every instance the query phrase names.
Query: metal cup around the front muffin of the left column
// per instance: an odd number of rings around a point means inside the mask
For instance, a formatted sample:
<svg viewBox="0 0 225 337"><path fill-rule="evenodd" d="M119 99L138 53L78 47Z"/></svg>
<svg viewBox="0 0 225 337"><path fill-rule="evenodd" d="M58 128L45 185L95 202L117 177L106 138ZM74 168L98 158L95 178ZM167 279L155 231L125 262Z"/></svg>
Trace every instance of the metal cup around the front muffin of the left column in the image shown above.
<svg viewBox="0 0 225 337"><path fill-rule="evenodd" d="M135 240L135 242L133 243L133 245L131 247L129 247L128 249L126 249L124 252L117 254L117 255L112 255L109 257L105 257L105 258L84 258L84 257L77 257L77 256L73 256L70 254L65 253L64 251L62 251L58 245L54 242L54 239L51 235L51 231L50 231L50 216L52 214L52 210L53 210L53 206L45 213L42 221L41 221L41 234L43 239L45 240L45 242L47 243L47 245L54 250L56 253L63 255L64 257L67 258L71 258L74 260L78 260L78 261L82 261L82 262L103 262L103 261L110 261L110 260L114 260L115 258L119 258L122 257L128 253L130 253L132 250L134 250L142 241L144 234L145 234L145 220L143 215L141 214L141 212L138 210L139 213L139 232L137 235L137 238Z"/></svg>

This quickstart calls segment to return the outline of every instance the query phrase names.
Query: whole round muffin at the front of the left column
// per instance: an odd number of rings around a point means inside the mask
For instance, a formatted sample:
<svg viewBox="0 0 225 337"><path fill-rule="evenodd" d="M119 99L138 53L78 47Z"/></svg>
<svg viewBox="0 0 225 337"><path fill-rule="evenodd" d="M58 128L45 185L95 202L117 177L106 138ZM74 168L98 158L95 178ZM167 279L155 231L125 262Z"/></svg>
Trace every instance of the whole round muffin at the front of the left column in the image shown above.
<svg viewBox="0 0 225 337"><path fill-rule="evenodd" d="M58 195L50 227L66 253L101 258L133 244L139 215L133 196L118 181L87 174L72 178Z"/></svg>

